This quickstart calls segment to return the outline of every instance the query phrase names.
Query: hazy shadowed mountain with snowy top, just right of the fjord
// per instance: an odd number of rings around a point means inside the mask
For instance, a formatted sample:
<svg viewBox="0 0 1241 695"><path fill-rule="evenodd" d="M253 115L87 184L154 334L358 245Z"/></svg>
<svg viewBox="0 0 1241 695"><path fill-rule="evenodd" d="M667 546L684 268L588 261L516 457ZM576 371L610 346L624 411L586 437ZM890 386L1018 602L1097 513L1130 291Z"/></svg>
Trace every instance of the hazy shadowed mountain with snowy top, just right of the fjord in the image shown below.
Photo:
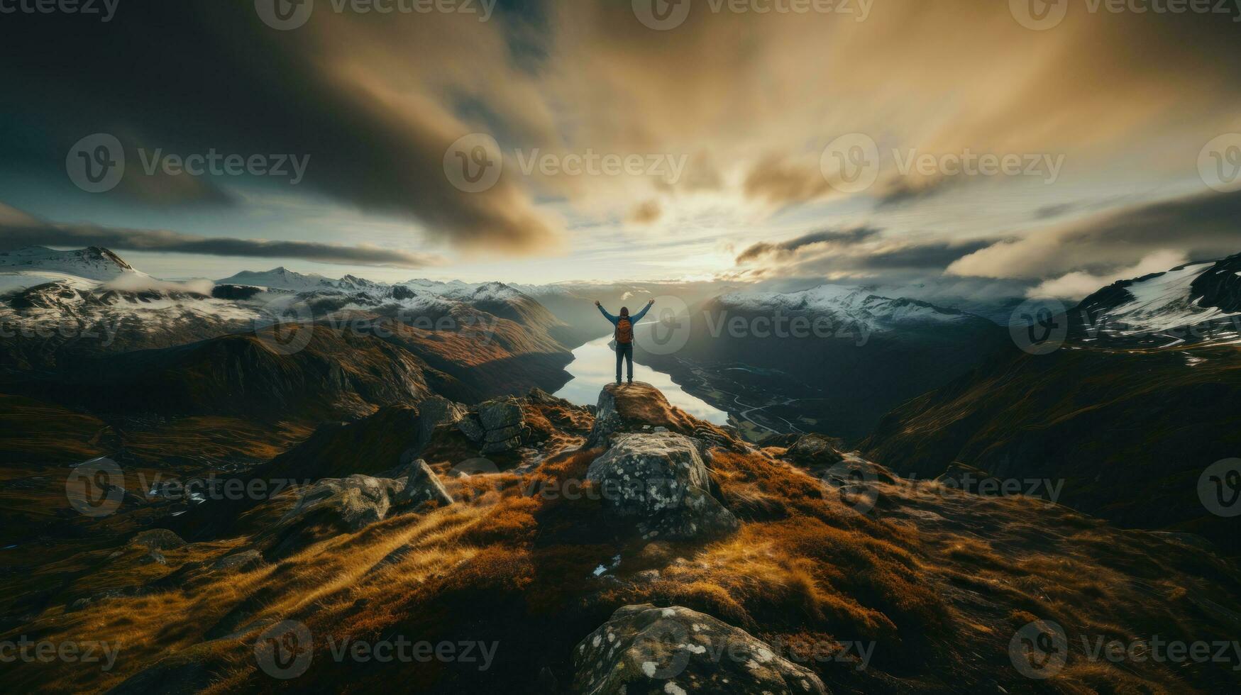
<svg viewBox="0 0 1241 695"><path fill-rule="evenodd" d="M679 321L683 328L671 333L654 331L680 341L678 331L685 330L684 348L640 350L637 359L719 408L745 412L738 417L758 423L759 434L861 438L890 408L964 372L1008 340L982 316L834 285L726 294Z"/></svg>

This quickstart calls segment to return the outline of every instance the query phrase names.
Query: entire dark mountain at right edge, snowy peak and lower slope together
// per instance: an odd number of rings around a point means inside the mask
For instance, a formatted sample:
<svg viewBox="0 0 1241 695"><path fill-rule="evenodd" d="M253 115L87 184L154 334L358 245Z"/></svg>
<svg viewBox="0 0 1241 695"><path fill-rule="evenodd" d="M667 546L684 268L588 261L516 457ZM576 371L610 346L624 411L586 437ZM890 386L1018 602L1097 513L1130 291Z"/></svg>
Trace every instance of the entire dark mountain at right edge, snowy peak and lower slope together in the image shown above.
<svg viewBox="0 0 1241 695"><path fill-rule="evenodd" d="M1235 554L1235 525L1204 503L1200 478L1241 451L1237 272L1232 256L1103 288L1060 316L1062 346L1009 346L894 408L862 449L902 475L961 462L1062 480L1062 504L1122 526L1194 531Z"/></svg>

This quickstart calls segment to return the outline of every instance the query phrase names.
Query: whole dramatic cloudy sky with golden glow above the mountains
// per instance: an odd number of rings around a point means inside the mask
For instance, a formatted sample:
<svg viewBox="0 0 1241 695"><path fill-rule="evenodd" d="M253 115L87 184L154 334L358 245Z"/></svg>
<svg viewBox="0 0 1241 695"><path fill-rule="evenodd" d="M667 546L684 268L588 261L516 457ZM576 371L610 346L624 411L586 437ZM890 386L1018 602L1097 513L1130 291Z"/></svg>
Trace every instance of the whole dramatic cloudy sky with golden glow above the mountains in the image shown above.
<svg viewBox="0 0 1241 695"><path fill-rule="evenodd" d="M1065 297L1241 251L1232 0L112 2L0 15L0 247ZM263 166L163 166L212 151Z"/></svg>

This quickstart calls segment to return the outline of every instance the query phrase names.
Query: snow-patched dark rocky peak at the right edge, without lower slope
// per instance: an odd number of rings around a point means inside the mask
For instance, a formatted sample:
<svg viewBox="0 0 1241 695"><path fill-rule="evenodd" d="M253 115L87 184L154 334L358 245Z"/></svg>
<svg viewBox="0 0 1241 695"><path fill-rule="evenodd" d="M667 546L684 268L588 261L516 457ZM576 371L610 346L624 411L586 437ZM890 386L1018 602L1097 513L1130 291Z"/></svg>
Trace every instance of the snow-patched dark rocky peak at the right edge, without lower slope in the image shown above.
<svg viewBox="0 0 1241 695"><path fill-rule="evenodd" d="M1086 341L1123 339L1163 346L1236 340L1239 316L1241 253L1113 283L1071 312Z"/></svg>

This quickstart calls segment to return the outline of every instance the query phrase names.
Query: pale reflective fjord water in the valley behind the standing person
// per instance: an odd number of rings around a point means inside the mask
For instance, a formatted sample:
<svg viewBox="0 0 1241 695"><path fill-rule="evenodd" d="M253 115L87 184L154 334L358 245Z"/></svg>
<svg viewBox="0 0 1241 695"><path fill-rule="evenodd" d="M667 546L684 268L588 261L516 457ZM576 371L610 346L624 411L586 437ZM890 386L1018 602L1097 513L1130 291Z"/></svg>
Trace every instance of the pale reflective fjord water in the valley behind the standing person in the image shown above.
<svg viewBox="0 0 1241 695"><path fill-rule="evenodd" d="M573 375L573 379L568 380L568 383L562 386L560 391L556 391L556 396L583 406L594 405L599 400L599 390L616 381L617 357L616 352L608 348L609 340L612 340L612 334L596 338L573 350L573 361L565 367L565 371ZM728 413L707 405L701 398L690 396L680 386L673 383L671 376L661 371L634 362L633 380L645 381L659 388L668 397L669 403L699 419L715 424L725 424L728 421Z"/></svg>

